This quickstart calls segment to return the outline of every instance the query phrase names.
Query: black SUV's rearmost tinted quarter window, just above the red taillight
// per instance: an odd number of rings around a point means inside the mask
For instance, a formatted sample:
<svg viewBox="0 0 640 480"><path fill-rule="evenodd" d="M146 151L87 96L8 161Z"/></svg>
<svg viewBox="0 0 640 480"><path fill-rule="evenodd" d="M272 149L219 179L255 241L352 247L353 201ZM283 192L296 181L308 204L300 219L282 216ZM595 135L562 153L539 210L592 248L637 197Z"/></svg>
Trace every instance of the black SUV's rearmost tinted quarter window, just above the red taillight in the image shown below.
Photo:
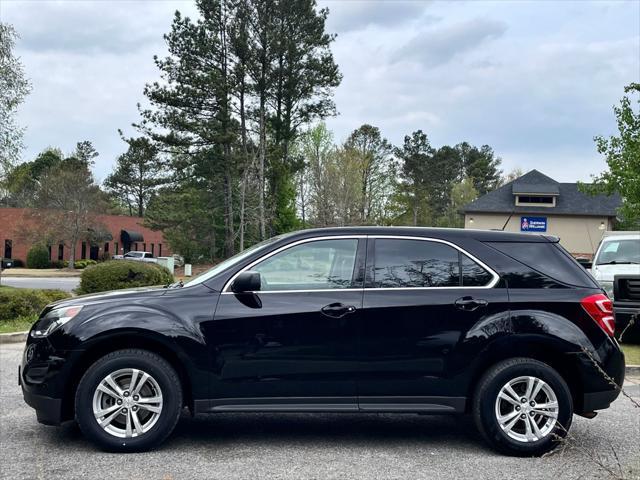
<svg viewBox="0 0 640 480"><path fill-rule="evenodd" d="M587 271L559 244L551 242L488 242L489 246L542 275L576 287L597 287Z"/></svg>

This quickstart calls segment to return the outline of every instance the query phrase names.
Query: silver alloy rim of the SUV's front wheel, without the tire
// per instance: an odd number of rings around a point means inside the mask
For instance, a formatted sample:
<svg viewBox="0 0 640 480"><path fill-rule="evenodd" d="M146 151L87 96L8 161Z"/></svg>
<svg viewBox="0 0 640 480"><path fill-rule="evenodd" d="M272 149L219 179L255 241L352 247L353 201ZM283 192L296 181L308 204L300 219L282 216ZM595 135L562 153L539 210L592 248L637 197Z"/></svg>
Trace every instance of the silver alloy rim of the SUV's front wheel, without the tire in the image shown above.
<svg viewBox="0 0 640 480"><path fill-rule="evenodd" d="M93 415L107 433L120 438L143 435L162 413L162 390L148 373L125 368L102 379L93 394Z"/></svg>

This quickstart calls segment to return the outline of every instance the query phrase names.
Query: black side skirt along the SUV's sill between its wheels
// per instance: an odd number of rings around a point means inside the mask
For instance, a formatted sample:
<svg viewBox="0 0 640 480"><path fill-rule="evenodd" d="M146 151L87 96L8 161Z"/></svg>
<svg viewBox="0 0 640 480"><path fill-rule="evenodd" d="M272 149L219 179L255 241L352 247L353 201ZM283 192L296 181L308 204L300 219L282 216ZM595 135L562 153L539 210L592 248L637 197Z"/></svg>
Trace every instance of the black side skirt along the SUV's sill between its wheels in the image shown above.
<svg viewBox="0 0 640 480"><path fill-rule="evenodd" d="M358 403L359 400L359 403ZM263 397L196 400L195 413L396 412L463 413L466 397Z"/></svg>

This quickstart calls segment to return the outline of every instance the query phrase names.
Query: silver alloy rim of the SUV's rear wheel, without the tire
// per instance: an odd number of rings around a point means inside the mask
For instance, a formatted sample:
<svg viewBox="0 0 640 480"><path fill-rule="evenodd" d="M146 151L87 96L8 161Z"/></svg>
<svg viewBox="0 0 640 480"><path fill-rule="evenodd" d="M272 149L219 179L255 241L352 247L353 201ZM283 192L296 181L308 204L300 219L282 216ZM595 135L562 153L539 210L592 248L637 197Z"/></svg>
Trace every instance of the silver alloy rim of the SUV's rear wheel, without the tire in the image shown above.
<svg viewBox="0 0 640 480"><path fill-rule="evenodd" d="M495 415L509 438L530 443L546 438L558 421L558 399L548 383L537 377L517 377L498 393Z"/></svg>

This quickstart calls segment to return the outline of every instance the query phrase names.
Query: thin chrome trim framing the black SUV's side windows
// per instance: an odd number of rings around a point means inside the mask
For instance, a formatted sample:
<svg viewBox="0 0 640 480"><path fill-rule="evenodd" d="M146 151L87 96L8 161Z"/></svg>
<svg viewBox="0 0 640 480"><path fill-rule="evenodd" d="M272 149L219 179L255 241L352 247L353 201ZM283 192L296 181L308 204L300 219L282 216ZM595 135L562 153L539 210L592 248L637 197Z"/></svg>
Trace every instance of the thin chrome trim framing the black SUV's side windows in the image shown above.
<svg viewBox="0 0 640 480"><path fill-rule="evenodd" d="M383 239L392 239L392 240L421 240L421 241L425 241L425 242L435 242L435 243L444 243L445 245L449 245L450 247L455 248L456 250L458 250L459 252L465 254L467 257L469 257L471 260L473 260L474 262L476 262L478 265L480 265L482 268L484 268L487 272L489 272L492 275L492 280L487 283L486 285L481 285L481 286L455 286L455 287L361 287L361 288L319 288L319 289L299 289L299 290L265 290L265 291L259 291L260 294L263 293L312 293L312 292L359 292L359 291L385 291L385 290L455 290L455 289L464 289L464 290L480 290L480 289L485 289L485 288L493 288L496 286L496 284L500 281L500 275L498 275L498 273L493 270L491 267L489 267L486 263L484 263L483 261L479 260L477 257L475 257L474 255L470 254L469 252L467 252L465 249L459 247L458 245L456 245L455 243L449 242L448 240L442 240L440 238L431 238L431 237L416 237L416 236L406 236L406 235L384 235L384 234L377 234L377 235L329 235L329 236L323 236L323 237L311 237L311 238L303 238L301 240L297 240L293 243L287 244L287 245L283 245L280 248L277 248L276 250L274 250L273 252L269 252L268 254L258 258L257 260L254 260L253 262L251 262L249 265L247 265L246 267L242 268L240 271L238 271L235 275L233 275L233 277L231 277L229 280L227 280L227 283L225 283L223 289L222 289L222 294L223 295L234 295L234 293L230 290L231 289L231 284L233 283L233 281L236 279L236 277L238 275L240 275L242 272L245 272L247 270L250 270L251 268L253 268L254 266L256 266L258 263L262 262L263 260L268 259L269 257L276 255L277 253L280 253L284 250L287 250L291 247L295 247L296 245L300 245L302 243L308 243L308 242L314 242L314 241L318 241L318 240L338 240L338 239L377 239L377 238L383 238Z"/></svg>

